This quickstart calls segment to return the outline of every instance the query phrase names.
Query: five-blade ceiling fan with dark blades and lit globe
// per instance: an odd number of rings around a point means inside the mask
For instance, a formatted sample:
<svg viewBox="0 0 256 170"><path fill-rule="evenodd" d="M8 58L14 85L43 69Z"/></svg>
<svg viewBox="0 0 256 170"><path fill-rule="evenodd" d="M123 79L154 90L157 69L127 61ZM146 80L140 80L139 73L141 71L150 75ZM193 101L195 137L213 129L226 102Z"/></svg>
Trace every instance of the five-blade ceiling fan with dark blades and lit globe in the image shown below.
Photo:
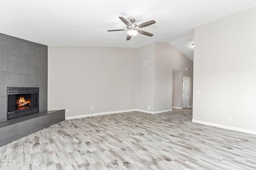
<svg viewBox="0 0 256 170"><path fill-rule="evenodd" d="M125 25L127 25L127 29L112 29L112 30L108 30L108 31L127 31L127 37L126 37L126 40L130 40L132 38L132 36L136 36L138 33L140 34L143 34L143 35L147 35L147 36L150 36L152 37L153 34L152 33L149 33L149 32L146 32L146 31L142 31L142 30L139 30L140 28L143 28L143 27L147 27L149 25L152 25L154 23L156 23L156 21L152 20L152 21L147 21L147 22L144 22L140 25L137 25L134 23L135 19L132 18L130 19L131 23L128 22L124 17L119 17L121 21L123 21L123 23L125 23Z"/></svg>

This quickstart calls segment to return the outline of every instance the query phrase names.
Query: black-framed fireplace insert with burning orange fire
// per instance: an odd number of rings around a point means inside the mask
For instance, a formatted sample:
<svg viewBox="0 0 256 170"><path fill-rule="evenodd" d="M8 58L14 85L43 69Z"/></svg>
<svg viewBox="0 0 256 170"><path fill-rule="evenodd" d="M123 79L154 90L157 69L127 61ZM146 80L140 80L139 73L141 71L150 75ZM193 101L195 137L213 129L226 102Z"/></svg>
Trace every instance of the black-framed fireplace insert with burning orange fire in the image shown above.
<svg viewBox="0 0 256 170"><path fill-rule="evenodd" d="M7 120L39 112L39 88L7 87Z"/></svg>

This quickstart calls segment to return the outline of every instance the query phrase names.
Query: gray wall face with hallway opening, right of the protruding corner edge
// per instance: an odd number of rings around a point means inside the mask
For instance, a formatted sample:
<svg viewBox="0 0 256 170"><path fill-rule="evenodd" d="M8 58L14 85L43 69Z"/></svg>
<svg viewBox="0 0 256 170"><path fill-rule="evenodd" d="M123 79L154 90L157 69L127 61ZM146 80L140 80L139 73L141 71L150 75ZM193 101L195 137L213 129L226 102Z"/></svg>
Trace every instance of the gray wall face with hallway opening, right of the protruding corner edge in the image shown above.
<svg viewBox="0 0 256 170"><path fill-rule="evenodd" d="M173 69L181 70L182 76L190 77L189 105L193 104L193 62L170 43L155 42L154 111L172 109Z"/></svg>

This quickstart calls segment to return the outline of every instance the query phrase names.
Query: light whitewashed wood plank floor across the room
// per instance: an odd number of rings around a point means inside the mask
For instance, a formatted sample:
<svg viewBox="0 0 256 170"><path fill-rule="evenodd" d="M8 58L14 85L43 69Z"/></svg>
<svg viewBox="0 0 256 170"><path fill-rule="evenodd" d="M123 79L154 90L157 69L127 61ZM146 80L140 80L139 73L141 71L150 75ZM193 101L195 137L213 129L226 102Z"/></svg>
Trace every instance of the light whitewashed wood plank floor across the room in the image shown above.
<svg viewBox="0 0 256 170"><path fill-rule="evenodd" d="M256 169L256 135L191 121L191 108L65 120L0 147L1 160L34 160L0 169Z"/></svg>

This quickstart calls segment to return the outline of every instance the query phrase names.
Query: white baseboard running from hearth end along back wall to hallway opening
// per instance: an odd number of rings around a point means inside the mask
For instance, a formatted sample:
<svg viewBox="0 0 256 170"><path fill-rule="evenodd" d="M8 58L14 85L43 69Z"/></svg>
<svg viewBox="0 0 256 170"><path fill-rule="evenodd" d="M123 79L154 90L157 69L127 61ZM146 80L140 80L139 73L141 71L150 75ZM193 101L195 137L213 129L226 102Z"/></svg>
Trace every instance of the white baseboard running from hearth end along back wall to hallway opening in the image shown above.
<svg viewBox="0 0 256 170"><path fill-rule="evenodd" d="M144 112L144 113L156 114L156 113L163 113L163 112L167 112L167 111L172 111L172 109L161 110L161 111L147 111L147 110L141 110L141 109L107 111L107 112L101 112L101 113L91 113L91 114L84 114L84 115L67 116L67 117L65 117L65 120L78 119L78 118L82 118L82 117L99 116L99 115L109 115L109 114L114 114L114 113L125 113L125 112L130 112L130 111L141 111L141 112Z"/></svg>

